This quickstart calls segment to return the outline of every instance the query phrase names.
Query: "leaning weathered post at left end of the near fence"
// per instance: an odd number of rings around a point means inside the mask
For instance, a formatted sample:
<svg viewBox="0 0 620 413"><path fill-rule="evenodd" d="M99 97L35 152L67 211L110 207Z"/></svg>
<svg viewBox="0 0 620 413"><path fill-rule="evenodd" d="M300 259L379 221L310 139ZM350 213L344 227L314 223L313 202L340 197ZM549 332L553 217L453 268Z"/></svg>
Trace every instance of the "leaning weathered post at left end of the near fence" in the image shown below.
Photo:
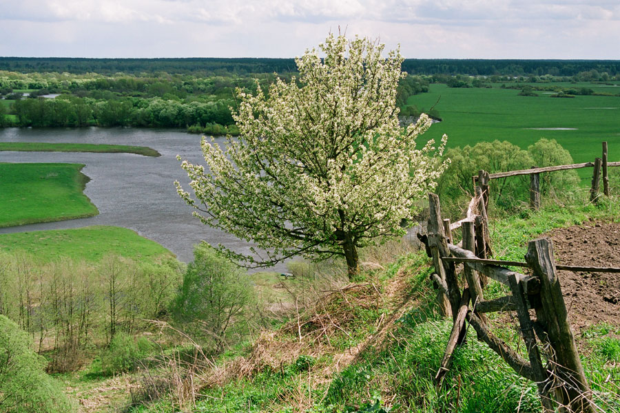
<svg viewBox="0 0 620 413"><path fill-rule="evenodd" d="M446 298L442 292L437 293L437 303L440 304L440 310L444 315L452 314L455 318L459 310L461 292L454 262L446 262L441 259L441 257L449 257L450 250L444 234L439 197L435 193L428 193L428 205L430 207L427 226L428 246L433 255L435 272L447 286L449 305L446 305Z"/></svg>

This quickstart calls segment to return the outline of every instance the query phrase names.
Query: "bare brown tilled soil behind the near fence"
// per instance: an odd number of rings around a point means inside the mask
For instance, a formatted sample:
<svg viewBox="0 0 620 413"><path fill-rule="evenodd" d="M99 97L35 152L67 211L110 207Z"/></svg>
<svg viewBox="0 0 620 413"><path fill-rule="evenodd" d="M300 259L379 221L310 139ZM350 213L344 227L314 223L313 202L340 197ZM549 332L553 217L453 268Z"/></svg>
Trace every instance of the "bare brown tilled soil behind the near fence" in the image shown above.
<svg viewBox="0 0 620 413"><path fill-rule="evenodd" d="M618 223L572 226L548 236L558 264L620 267ZM620 326L620 273L559 271L559 279L575 332L601 322Z"/></svg>

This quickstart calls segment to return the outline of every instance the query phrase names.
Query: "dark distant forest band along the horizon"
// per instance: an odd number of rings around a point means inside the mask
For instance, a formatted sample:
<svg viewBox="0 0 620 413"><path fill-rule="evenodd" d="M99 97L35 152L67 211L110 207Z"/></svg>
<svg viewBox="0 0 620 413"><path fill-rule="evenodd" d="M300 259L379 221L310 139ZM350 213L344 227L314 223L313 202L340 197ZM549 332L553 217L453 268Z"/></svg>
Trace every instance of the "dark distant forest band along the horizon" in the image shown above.
<svg viewBox="0 0 620 413"><path fill-rule="evenodd" d="M465 74L472 76L575 76L596 70L620 74L620 61L609 60L518 60L518 59L405 59L409 74ZM187 58L187 59L86 59L60 57L0 57L0 70L10 72L68 72L72 74L201 74L245 75L296 72L294 59Z"/></svg>

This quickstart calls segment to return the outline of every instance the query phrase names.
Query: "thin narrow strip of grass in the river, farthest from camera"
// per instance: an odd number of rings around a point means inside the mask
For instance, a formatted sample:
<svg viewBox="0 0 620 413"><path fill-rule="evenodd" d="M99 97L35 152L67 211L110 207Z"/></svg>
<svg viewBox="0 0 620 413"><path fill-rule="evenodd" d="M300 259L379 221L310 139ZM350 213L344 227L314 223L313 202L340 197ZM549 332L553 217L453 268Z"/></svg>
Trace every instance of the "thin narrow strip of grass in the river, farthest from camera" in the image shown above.
<svg viewBox="0 0 620 413"><path fill-rule="evenodd" d="M0 142L0 151L136 153L143 156L161 156L161 153L149 147L94 143Z"/></svg>

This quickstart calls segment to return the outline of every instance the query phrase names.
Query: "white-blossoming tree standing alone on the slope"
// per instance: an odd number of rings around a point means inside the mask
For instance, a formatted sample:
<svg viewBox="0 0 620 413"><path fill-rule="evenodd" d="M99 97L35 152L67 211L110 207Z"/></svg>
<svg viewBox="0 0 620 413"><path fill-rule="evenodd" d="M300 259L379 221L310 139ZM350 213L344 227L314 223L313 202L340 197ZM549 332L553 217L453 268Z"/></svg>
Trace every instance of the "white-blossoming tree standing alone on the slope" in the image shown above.
<svg viewBox="0 0 620 413"><path fill-rule="evenodd" d="M343 256L349 274L358 248L402 235L415 200L433 189L446 143L416 149L428 116L401 127L395 105L402 56L384 45L330 34L296 59L299 78L276 79L269 93L238 90L240 138L220 147L203 137L208 169L184 160L194 195L181 198L203 223L253 242L248 266L288 257Z"/></svg>

